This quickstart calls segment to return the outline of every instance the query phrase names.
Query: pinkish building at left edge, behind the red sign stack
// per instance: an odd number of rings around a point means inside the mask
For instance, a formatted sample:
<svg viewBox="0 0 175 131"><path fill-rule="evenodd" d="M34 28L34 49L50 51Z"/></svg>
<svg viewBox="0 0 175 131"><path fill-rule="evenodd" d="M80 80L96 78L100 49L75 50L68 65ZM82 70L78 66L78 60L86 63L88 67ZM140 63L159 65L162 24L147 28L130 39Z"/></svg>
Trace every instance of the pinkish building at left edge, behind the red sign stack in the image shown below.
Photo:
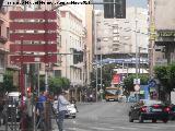
<svg viewBox="0 0 175 131"><path fill-rule="evenodd" d="M19 84L19 68L11 63L9 59L9 49L10 44L12 44L9 40L10 36L10 19L9 14L10 11L21 11L23 10L22 5L8 5L5 2L3 3L3 7L0 10L0 83L3 82L3 75L8 69L13 70L13 84Z"/></svg>

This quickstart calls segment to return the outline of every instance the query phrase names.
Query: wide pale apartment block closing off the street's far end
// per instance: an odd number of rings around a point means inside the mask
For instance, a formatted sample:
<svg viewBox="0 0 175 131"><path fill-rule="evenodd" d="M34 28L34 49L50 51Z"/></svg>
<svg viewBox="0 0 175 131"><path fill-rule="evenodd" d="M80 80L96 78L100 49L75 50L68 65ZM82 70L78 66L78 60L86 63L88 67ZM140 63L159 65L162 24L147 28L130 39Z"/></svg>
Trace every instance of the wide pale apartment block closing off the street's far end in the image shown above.
<svg viewBox="0 0 175 131"><path fill-rule="evenodd" d="M104 19L104 12L96 10L95 53L97 56L102 55L103 59L131 58L130 63L131 60L135 61L132 68L136 68L136 57L138 55L139 63L141 64L142 61L147 64L148 28L148 9L127 7L126 19ZM121 60L118 62L121 62Z"/></svg>

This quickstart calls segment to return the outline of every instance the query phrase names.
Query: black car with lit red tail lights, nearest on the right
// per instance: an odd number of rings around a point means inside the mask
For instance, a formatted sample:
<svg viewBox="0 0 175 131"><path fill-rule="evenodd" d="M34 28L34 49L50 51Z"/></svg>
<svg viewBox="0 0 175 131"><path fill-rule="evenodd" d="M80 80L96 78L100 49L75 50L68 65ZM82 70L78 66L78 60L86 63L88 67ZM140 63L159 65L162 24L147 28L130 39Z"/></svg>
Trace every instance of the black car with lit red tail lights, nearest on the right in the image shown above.
<svg viewBox="0 0 175 131"><path fill-rule="evenodd" d="M142 100L130 107L129 110L129 122L133 120L139 120L143 122L144 120L162 120L163 122L168 121L170 107L165 106L159 100Z"/></svg>

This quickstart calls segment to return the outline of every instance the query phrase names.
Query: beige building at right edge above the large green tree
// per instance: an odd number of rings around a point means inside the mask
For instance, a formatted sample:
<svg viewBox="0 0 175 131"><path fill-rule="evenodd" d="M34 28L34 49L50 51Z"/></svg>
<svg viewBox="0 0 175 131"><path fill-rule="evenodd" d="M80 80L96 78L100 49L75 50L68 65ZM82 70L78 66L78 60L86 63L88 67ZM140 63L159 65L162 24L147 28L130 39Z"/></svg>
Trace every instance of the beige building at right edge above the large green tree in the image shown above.
<svg viewBox="0 0 175 131"><path fill-rule="evenodd" d="M150 0L150 69L153 75L154 66L163 66L175 61L173 11L174 0ZM162 11L165 11L162 13Z"/></svg>

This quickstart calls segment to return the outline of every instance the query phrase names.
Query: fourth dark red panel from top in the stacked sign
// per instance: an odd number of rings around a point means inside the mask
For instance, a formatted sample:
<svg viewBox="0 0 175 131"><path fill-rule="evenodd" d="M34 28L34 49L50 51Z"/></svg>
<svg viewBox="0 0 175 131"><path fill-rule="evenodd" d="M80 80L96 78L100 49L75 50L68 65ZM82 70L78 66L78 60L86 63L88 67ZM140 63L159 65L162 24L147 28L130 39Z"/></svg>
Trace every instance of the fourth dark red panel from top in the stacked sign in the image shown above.
<svg viewBox="0 0 175 131"><path fill-rule="evenodd" d="M49 50L49 52L56 52L57 51L57 45L56 44L48 44L48 45L23 45L23 51L38 51L44 52L45 50ZM21 45L20 44L11 44L10 45L10 51L21 51Z"/></svg>

